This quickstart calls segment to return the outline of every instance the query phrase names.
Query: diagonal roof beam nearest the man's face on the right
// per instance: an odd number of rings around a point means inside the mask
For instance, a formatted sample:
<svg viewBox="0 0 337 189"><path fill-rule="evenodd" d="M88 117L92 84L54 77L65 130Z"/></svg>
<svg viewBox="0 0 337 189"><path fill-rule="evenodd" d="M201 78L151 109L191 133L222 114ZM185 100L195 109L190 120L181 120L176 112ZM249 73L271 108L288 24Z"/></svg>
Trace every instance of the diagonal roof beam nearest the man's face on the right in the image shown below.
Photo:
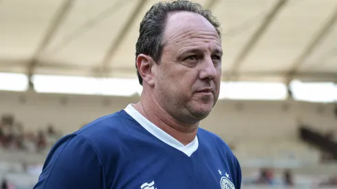
<svg viewBox="0 0 337 189"><path fill-rule="evenodd" d="M257 30L252 34L246 45L241 49L241 52L239 52L239 55L237 58L235 58L235 61L230 68L230 75L234 76L237 75L236 72L238 71L239 67L243 63L243 60L245 60L248 56L248 54L252 51L254 46L257 44L259 39L263 36L265 31L268 29L272 21L274 21L275 17L281 12L282 8L284 7L285 3L287 3L287 0L279 0L274 5L274 7L270 10L270 12L265 16L263 19L261 25ZM231 78L227 78L227 80L230 80Z"/></svg>

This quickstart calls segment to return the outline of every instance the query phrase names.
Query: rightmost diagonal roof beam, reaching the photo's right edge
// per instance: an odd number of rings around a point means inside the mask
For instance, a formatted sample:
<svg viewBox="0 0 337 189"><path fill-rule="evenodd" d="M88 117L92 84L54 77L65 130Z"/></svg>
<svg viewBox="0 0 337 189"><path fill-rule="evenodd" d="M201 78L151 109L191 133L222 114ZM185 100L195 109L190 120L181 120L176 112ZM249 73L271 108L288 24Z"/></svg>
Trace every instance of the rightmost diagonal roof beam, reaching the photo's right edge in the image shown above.
<svg viewBox="0 0 337 189"><path fill-rule="evenodd" d="M305 60L307 57L314 52L316 47L320 45L320 43L324 40L324 38L329 34L331 29L334 28L334 26L337 23L337 6L334 8L334 12L331 14L329 19L323 24L322 27L320 27L320 30L316 33L316 35L312 38L312 41L309 42L307 47L303 49L302 54L298 56L298 58L292 63L292 67L289 69L289 71L286 74L285 82L289 83L292 78L296 75L296 72L298 71L299 67L305 63Z"/></svg>

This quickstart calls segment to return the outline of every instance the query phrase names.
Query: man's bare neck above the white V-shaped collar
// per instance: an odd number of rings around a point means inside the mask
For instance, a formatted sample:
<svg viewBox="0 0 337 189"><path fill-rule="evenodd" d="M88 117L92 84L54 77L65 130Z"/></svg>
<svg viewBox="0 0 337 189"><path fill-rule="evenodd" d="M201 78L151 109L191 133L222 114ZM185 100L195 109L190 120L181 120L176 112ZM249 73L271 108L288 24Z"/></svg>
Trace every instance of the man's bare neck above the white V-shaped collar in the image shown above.
<svg viewBox="0 0 337 189"><path fill-rule="evenodd" d="M134 108L146 119L155 124L155 126L184 145L191 143L197 135L199 122L193 125L180 123L178 120L175 120L172 115L162 109L154 97L147 98L145 95L142 95L140 102L135 104Z"/></svg>

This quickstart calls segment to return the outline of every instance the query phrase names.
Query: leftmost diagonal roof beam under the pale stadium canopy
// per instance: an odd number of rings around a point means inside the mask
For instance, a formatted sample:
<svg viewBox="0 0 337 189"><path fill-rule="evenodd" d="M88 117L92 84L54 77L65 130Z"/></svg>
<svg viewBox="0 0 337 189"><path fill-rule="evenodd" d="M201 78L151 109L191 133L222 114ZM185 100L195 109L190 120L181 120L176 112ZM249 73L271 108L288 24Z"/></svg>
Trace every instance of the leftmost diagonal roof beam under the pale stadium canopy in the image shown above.
<svg viewBox="0 0 337 189"><path fill-rule="evenodd" d="M58 10L53 16L52 21L50 22L49 27L47 27L47 32L45 33L45 36L43 36L42 41L40 45L37 47L37 49L34 52L34 55L32 56L32 59L30 60L30 63L28 64L28 77L30 78L30 87L32 87L31 77L34 73L34 69L38 63L39 56L49 45L50 41L52 41L52 38L55 36L58 28L62 25L63 21L65 20L65 17L69 13L69 10L72 8L72 5L74 4L75 0L65 0L63 3L58 7Z"/></svg>

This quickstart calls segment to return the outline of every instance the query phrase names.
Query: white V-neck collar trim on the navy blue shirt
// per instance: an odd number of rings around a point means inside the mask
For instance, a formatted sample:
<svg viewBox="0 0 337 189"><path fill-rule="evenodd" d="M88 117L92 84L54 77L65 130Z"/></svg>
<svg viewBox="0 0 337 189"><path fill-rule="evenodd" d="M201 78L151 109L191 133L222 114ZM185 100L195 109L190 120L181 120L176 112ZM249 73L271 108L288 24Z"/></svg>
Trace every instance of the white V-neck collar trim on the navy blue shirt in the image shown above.
<svg viewBox="0 0 337 189"><path fill-rule="evenodd" d="M190 143L184 146L181 142L176 140L171 135L168 135L165 131L162 131L159 127L155 126L152 122L147 120L142 114L140 114L134 107L133 104L129 104L124 111L126 111L134 120L136 120L146 131L149 131L152 135L157 137L162 142L168 144L169 146L172 146L173 148L176 148L178 151L182 151L182 153L185 153L188 157L191 157L191 155L197 151L197 148L199 146L198 138L195 136L195 139Z"/></svg>

